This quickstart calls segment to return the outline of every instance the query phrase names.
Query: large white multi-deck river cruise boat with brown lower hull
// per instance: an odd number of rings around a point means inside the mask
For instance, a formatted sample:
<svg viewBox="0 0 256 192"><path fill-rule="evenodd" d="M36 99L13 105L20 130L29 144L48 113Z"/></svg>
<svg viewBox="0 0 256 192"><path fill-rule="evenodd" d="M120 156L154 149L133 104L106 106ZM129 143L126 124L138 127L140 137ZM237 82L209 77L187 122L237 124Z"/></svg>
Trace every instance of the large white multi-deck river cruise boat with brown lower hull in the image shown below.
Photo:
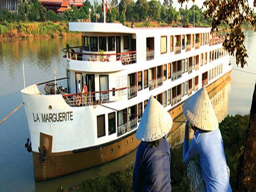
<svg viewBox="0 0 256 192"><path fill-rule="evenodd" d="M202 86L210 92L232 70L225 37L210 28L71 22L69 29L82 41L63 49L66 77L21 90L36 180L128 154L151 95L175 118L187 98Z"/></svg>

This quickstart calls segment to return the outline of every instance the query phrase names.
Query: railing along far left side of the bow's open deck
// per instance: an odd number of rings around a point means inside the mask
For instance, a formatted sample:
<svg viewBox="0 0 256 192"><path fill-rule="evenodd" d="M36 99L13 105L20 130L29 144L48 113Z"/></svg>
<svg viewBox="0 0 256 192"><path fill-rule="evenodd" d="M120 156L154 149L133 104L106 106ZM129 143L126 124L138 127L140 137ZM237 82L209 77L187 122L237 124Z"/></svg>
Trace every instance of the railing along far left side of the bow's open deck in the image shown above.
<svg viewBox="0 0 256 192"><path fill-rule="evenodd" d="M38 83L36 84L38 87L38 90L41 94L51 95L51 94L64 94L68 92L68 86L67 86L67 78L58 78L56 79L56 86L55 86L55 80L49 80L46 82ZM56 90L56 92L55 92Z"/></svg>

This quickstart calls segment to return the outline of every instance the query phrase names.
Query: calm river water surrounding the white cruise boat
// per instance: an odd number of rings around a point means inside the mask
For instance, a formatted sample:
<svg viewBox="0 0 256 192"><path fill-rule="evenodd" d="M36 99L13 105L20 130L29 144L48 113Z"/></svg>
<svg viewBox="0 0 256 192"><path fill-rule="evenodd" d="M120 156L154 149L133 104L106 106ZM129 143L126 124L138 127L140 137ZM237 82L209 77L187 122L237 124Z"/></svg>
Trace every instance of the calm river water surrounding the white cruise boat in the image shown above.
<svg viewBox="0 0 256 192"><path fill-rule="evenodd" d="M245 32L245 46L248 49L248 66L243 71L256 73L256 35ZM22 62L24 62L26 85L44 82L66 76L61 65L61 49L80 45L80 38L0 41L0 120L22 103L20 90L23 85ZM230 58L236 69L235 58ZM240 68L237 68L240 69ZM214 109L221 121L228 114L249 114L256 75L233 70L230 80L224 82L210 94ZM184 116L177 120L183 121ZM174 123L174 131L168 137L170 146L179 146L184 136L184 124ZM46 182L35 182L32 154L24 144L29 137L28 123L24 107L0 124L0 191L56 191L59 186L69 190L86 178L105 176L123 170L134 163L134 150L130 154L103 166L64 176Z"/></svg>

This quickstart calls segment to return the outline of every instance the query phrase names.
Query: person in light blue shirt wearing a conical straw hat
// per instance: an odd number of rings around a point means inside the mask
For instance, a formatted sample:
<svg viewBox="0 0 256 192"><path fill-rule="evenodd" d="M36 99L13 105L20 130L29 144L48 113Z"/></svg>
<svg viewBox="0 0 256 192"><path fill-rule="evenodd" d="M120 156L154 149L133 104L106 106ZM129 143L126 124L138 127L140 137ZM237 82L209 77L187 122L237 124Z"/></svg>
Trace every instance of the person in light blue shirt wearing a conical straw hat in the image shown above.
<svg viewBox="0 0 256 192"><path fill-rule="evenodd" d="M187 177L190 191L232 191L218 119L206 88L201 88L188 98L182 108L187 119L183 162L188 166ZM189 127L194 130L194 137L190 144ZM194 160L195 158L198 162Z"/></svg>

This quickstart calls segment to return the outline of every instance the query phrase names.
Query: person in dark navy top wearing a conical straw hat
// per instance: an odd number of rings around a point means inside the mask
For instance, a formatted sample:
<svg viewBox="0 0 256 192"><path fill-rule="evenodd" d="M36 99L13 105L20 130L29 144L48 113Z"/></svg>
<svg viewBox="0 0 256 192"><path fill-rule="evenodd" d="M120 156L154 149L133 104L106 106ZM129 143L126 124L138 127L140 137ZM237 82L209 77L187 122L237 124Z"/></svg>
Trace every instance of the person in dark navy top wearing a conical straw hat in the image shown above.
<svg viewBox="0 0 256 192"><path fill-rule="evenodd" d="M172 117L151 96L136 131L140 140L133 170L134 192L170 192L170 145L166 135L172 128Z"/></svg>

